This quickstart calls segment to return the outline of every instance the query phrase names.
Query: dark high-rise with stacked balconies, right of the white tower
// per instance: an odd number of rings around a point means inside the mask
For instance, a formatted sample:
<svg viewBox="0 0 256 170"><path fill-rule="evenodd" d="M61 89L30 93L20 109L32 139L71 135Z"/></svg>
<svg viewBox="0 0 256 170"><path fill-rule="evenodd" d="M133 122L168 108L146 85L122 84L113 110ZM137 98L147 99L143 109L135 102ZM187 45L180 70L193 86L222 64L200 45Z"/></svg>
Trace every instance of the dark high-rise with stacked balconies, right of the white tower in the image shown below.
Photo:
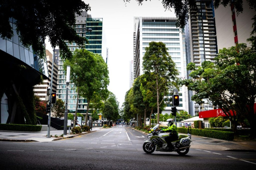
<svg viewBox="0 0 256 170"><path fill-rule="evenodd" d="M197 7L198 9L190 9L190 18L185 26L186 56L187 63L194 62L195 66L201 66L203 61L215 62L217 39L213 0L197 0ZM195 116L199 111L214 109L210 104L199 105L192 101L193 94L193 91L189 91L189 114L191 116Z"/></svg>

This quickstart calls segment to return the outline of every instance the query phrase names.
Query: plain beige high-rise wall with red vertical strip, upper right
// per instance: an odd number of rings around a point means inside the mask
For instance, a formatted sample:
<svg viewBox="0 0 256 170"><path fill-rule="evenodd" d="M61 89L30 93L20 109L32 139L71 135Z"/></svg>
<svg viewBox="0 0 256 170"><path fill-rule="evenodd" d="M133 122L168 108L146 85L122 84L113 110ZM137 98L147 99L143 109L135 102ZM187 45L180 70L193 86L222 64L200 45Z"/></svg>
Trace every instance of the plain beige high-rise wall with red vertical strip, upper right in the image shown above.
<svg viewBox="0 0 256 170"><path fill-rule="evenodd" d="M247 1L243 1L243 12L239 15L233 4L226 7L220 5L215 9L218 50L235 46L237 43L249 45L247 39L253 30L252 18L255 14Z"/></svg>

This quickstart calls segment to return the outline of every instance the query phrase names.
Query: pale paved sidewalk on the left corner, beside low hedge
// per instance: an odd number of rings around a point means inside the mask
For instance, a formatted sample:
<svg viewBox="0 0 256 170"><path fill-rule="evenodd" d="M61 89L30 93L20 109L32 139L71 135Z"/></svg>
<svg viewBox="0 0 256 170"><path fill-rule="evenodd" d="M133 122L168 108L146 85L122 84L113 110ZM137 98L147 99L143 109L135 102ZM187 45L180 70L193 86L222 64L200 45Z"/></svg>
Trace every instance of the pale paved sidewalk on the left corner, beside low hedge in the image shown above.
<svg viewBox="0 0 256 170"><path fill-rule="evenodd" d="M60 139L71 138L87 133L91 133L93 131L101 130L99 127L92 128L91 131L82 132L82 134L69 134L69 130L67 130L67 135L63 135L63 137L55 137L55 135L62 135L64 130L51 130L50 136L46 137L48 131L39 131L39 132L24 132L24 131L8 131L8 130L0 130L0 141L11 141L11 142L50 142L57 141Z"/></svg>

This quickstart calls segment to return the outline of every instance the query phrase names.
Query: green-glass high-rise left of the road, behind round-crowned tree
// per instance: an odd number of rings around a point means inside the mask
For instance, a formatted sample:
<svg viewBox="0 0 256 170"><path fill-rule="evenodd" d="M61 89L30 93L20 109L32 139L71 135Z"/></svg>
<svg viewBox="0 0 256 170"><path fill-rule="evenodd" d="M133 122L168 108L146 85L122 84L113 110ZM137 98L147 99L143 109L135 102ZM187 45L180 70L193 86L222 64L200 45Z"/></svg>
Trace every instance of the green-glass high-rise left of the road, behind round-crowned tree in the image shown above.
<svg viewBox="0 0 256 170"><path fill-rule="evenodd" d="M106 41L103 29L103 19L102 18L91 18L91 15L88 15L86 11L82 12L82 15L76 16L76 31L82 36L86 37L89 41L89 44L86 44L86 50L91 51L93 53L100 54L103 59L107 62L108 57L108 49L106 48ZM89 28L92 31L89 31ZM79 49L79 46L72 42L66 42L69 46L70 51L74 51L75 49ZM64 60L59 57L58 60L58 86L57 86L57 96L59 99L63 101L66 100L66 73L63 68ZM69 84L69 92L68 92L68 102L67 109L69 113L75 113L76 103L77 103L77 92L74 84ZM87 110L87 100L83 97L79 97L78 101L78 113L85 115Z"/></svg>

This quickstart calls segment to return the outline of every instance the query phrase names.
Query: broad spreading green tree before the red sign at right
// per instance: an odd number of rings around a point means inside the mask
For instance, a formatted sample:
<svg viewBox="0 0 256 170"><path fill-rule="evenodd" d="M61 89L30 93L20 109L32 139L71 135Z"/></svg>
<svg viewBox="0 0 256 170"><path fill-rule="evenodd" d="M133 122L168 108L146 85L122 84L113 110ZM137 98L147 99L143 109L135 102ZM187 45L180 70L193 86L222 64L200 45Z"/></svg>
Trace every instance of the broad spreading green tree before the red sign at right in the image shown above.
<svg viewBox="0 0 256 170"><path fill-rule="evenodd" d="M195 67L187 65L192 70L193 79L184 80L189 90L196 92L192 100L202 103L209 99L212 104L225 113L236 132L238 120L246 118L251 127L251 137L256 138L256 114L254 110L256 99L256 52L253 47L238 44L229 49L219 50L215 64L209 61ZM234 116L232 116L234 114Z"/></svg>

